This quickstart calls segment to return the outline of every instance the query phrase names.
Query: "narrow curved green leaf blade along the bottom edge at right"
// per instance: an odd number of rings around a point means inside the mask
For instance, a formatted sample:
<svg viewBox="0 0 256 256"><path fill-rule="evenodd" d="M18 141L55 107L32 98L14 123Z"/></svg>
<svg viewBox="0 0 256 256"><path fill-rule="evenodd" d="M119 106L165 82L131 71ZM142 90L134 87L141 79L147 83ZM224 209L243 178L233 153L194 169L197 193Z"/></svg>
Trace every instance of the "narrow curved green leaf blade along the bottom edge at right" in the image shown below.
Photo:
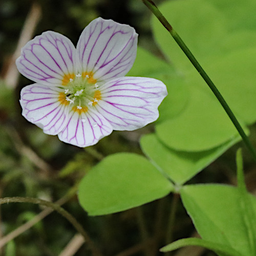
<svg viewBox="0 0 256 256"><path fill-rule="evenodd" d="M212 243L212 242L205 241L205 240L202 240L199 238L180 239L171 244L164 246L163 248L160 249L160 251L162 251L162 252L173 251L173 250L179 249L184 246L189 246L189 245L201 246L201 247L204 247L209 250L213 250L218 253L223 253L224 255L227 255L227 256L241 256L241 254L238 251L236 251L226 245Z"/></svg>

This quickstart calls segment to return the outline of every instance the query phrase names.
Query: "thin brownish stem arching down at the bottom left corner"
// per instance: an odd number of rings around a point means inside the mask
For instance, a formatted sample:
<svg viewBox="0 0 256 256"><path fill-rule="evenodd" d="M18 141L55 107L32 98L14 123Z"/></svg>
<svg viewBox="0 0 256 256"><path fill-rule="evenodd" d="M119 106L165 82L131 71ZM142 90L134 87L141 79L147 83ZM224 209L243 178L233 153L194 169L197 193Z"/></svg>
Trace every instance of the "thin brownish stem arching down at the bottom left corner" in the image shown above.
<svg viewBox="0 0 256 256"><path fill-rule="evenodd" d="M32 204L40 204L44 205L46 207L50 207L54 210L56 210L60 215L62 215L64 218L66 218L73 226L74 228L83 236L84 240L87 242L88 246L93 252L93 255L100 256L101 253L98 251L98 249L94 246L93 241L88 236L87 232L83 229L83 227L77 222L77 220L65 209L60 207L56 203L52 203L49 201L41 200L38 198L30 198L30 197L5 197L0 198L0 205L1 204L8 204L8 203L32 203Z"/></svg>

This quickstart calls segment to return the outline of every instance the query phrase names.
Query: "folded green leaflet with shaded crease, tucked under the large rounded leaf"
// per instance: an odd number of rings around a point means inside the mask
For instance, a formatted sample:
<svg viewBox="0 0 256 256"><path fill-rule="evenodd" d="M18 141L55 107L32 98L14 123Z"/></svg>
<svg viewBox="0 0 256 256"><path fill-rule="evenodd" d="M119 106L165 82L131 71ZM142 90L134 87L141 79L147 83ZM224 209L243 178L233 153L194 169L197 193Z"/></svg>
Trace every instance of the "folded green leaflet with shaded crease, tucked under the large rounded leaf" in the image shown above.
<svg viewBox="0 0 256 256"><path fill-rule="evenodd" d="M236 136L228 142L208 151L180 152L161 143L155 134L144 135L140 140L143 153L167 174L176 184L183 184L204 167L223 154L230 146L241 140Z"/></svg>

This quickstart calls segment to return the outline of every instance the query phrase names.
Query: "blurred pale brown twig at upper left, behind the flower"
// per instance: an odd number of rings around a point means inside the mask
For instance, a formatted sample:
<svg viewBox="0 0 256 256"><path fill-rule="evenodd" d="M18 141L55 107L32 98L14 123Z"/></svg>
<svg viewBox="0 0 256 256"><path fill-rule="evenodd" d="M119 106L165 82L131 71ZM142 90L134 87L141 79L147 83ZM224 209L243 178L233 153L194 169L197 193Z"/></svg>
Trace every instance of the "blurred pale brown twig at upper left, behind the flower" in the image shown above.
<svg viewBox="0 0 256 256"><path fill-rule="evenodd" d="M4 75L4 80L7 86L10 88L15 88L18 82L19 73L15 65L15 60L20 55L21 49L33 36L34 30L39 22L40 17L41 17L41 8L38 5L38 3L34 2L25 20L22 33L20 33L20 37L17 43L17 48L10 59L9 66Z"/></svg>

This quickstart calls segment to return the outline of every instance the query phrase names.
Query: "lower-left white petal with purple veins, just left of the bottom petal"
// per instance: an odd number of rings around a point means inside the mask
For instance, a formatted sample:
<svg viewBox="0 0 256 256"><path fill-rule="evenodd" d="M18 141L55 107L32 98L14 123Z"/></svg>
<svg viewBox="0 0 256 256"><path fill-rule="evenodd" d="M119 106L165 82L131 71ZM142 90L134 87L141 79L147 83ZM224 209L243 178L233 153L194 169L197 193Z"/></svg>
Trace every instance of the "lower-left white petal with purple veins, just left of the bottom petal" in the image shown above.
<svg viewBox="0 0 256 256"><path fill-rule="evenodd" d="M56 135L68 121L69 107L59 101L60 93L38 83L26 86L20 92L22 115L44 130Z"/></svg>

